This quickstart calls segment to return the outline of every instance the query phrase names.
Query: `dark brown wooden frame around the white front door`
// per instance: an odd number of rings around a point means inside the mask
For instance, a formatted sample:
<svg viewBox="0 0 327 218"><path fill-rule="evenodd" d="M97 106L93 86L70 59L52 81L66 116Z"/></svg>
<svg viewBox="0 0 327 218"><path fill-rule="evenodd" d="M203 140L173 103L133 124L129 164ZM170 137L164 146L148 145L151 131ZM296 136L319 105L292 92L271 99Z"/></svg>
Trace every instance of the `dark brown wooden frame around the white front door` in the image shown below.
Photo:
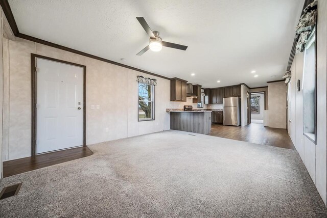
<svg viewBox="0 0 327 218"><path fill-rule="evenodd" d="M63 61L55 58L45 57L41 55L36 55L31 53L31 72L32 72L32 137L31 137L31 146L32 146L32 157L36 155L36 59L45 59L48 61L59 62L63 64L69 64L77 67L83 68L83 147L86 146L86 66L81 64L76 64L68 61Z"/></svg>

